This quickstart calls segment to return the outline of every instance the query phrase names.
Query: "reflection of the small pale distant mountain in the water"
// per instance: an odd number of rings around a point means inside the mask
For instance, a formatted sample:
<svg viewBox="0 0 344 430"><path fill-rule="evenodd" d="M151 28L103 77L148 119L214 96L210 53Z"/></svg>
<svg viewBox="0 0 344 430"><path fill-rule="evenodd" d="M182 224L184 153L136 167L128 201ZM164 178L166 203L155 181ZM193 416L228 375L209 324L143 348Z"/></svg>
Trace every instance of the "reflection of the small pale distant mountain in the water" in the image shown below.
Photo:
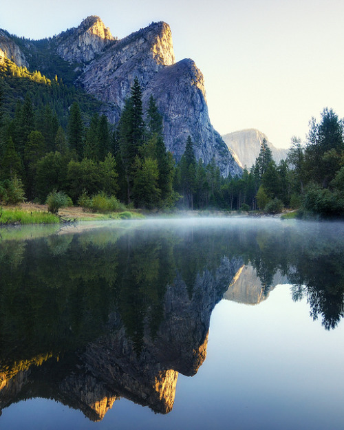
<svg viewBox="0 0 344 430"><path fill-rule="evenodd" d="M288 279L283 277L281 272L277 270L272 279L272 284L268 286L268 291L271 291L280 283L288 283ZM224 293L224 299L245 303L246 305L256 305L266 300L268 295L268 292L264 294L264 285L257 275L257 270L251 264L248 264L239 268L228 290Z"/></svg>

